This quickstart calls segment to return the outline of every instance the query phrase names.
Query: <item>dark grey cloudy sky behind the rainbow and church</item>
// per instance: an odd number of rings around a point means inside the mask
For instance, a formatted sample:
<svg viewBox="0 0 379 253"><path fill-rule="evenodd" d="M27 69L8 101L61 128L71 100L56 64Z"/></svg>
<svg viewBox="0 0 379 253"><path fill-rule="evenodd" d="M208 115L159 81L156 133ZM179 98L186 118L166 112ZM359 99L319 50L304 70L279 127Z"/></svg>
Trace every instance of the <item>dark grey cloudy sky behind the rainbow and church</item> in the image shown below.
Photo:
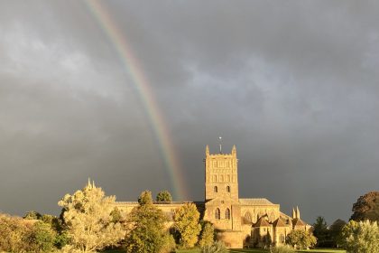
<svg viewBox="0 0 379 253"><path fill-rule="evenodd" d="M205 145L241 197L313 222L379 190L377 1L102 2L150 83L189 200ZM173 191L115 45L78 1L0 2L0 211L59 213L88 176L119 201ZM180 200L178 200L180 201Z"/></svg>

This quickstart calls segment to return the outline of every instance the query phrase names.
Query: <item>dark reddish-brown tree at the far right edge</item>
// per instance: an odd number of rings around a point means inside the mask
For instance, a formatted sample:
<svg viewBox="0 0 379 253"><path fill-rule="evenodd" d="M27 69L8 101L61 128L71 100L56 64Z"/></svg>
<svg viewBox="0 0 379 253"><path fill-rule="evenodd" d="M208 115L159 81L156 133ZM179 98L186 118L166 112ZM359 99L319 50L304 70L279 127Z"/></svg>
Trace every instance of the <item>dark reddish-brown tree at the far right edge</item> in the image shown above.
<svg viewBox="0 0 379 253"><path fill-rule="evenodd" d="M353 215L350 220L379 221L379 192L368 192L360 196L353 204Z"/></svg>

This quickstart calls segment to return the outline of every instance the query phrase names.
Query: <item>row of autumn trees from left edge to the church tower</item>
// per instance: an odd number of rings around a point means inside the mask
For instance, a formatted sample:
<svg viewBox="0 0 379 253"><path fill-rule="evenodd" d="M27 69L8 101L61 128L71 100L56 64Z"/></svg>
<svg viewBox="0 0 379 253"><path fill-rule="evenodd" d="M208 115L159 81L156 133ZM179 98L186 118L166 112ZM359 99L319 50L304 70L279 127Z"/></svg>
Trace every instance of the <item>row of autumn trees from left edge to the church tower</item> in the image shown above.
<svg viewBox="0 0 379 253"><path fill-rule="evenodd" d="M172 201L171 194L160 192L156 200ZM213 225L199 220L193 203L183 204L169 217L153 205L149 191L141 193L138 206L127 216L115 202L115 196L106 196L95 183L88 183L59 201L60 217L35 211L23 219L1 214L0 252L76 253L118 248L127 253L169 253L194 247L203 252L226 252L221 242L215 242Z"/></svg>

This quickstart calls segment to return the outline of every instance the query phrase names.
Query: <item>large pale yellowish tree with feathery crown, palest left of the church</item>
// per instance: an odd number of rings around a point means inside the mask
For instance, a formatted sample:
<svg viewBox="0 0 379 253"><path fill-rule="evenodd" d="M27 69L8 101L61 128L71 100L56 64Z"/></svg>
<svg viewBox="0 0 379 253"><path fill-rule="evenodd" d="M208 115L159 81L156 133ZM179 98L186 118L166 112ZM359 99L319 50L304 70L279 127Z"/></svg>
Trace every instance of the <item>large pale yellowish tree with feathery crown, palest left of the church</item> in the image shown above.
<svg viewBox="0 0 379 253"><path fill-rule="evenodd" d="M115 196L106 196L95 183L72 195L66 194L58 204L65 210L63 219L72 247L90 252L115 245L125 237L120 223L113 223L111 211Z"/></svg>

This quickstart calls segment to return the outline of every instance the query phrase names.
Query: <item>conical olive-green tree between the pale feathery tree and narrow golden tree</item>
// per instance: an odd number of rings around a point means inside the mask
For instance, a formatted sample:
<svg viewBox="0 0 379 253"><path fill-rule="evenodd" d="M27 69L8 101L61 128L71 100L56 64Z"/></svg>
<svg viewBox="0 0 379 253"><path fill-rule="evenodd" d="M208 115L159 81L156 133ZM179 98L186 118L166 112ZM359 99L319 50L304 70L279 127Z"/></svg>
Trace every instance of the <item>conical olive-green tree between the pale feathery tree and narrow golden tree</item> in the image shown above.
<svg viewBox="0 0 379 253"><path fill-rule="evenodd" d="M144 191L127 218L128 232L125 237L126 252L169 252L173 239L165 230L167 217L153 205L152 192Z"/></svg>

